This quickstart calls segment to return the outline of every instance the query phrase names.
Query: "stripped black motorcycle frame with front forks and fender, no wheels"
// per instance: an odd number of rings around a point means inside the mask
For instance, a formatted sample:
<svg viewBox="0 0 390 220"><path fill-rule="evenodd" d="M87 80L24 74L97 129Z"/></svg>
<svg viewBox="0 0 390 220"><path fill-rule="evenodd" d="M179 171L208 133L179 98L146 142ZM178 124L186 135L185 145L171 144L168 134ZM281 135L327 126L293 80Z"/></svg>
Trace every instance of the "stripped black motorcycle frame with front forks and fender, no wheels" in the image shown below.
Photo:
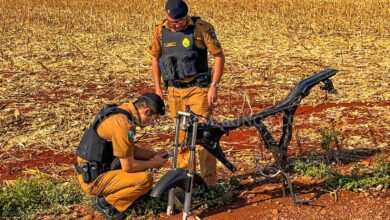
<svg viewBox="0 0 390 220"><path fill-rule="evenodd" d="M205 123L199 123L201 116L198 116L191 111L179 112L176 116L176 126L175 126L175 142L174 142L174 155L172 170L169 171L162 179L157 183L156 187L153 189L151 196L157 197L166 190L170 190L168 198L168 209L167 214L173 213L173 197L174 197L174 188L180 187L186 192L185 204L183 219L186 219L189 216L189 204L191 200L192 186L194 178L200 181L202 184L204 182L200 177L198 177L193 170L194 163L194 154L195 154L195 145L203 146L208 152L215 156L224 166L226 166L231 172L236 171L236 167L230 163L229 160L225 157L221 145L220 139L223 135L227 135L229 131L236 130L242 126L254 126L262 137L265 146L270 150L275 157L275 165L277 167L276 173L269 175L265 174L256 160L256 167L259 173L262 176L268 178L274 178L277 176L282 176L283 178L283 194L284 193L284 184L287 182L292 195L292 199L295 204L307 203L310 201L299 200L292 188L290 176L286 170L287 168L287 149L292 137L292 123L294 114L302 101L303 98L309 95L310 90L323 83L323 86L320 88L326 90L329 93L337 93L337 90L334 88L331 81L331 77L338 72L337 69L325 69L311 77L308 77L301 82L299 82L289 93L289 95L282 100L281 102L257 113L247 117L242 117L236 120L229 120L223 122L217 122L215 120L207 119ZM263 120L271 115L278 113L284 113L283 115L283 125L282 125L282 135L280 140L277 142L272 134L268 131L267 126L264 124ZM182 128L180 128L182 127ZM178 140L179 130L183 130L186 133L186 140L184 142L184 147L187 147L190 150L190 163L189 170L179 169L176 167L177 161L177 152L178 147L180 146ZM196 137L196 138L193 138Z"/></svg>

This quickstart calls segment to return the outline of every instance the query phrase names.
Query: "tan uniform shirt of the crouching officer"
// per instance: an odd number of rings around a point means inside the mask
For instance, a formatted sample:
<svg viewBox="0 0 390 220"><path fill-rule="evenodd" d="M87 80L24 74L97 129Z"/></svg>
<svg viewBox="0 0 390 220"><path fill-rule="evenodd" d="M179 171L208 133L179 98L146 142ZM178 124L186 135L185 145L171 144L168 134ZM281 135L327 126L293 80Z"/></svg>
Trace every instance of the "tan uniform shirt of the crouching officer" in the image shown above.
<svg viewBox="0 0 390 220"><path fill-rule="evenodd" d="M138 123L139 115L133 105L128 103L119 106L119 108L130 112ZM134 136L135 124L131 122L124 114L115 114L105 119L97 129L98 135L112 142L114 156L119 158L134 157ZM77 157L78 163L83 163L80 157Z"/></svg>

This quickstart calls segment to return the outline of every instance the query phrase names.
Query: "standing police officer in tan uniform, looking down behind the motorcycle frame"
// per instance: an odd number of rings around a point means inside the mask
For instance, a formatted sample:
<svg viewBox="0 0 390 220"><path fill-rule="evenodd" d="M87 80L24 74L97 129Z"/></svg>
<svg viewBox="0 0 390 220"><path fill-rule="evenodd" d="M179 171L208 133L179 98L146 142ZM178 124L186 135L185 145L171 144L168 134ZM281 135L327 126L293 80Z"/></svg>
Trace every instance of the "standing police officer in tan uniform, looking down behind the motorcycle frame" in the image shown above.
<svg viewBox="0 0 390 220"><path fill-rule="evenodd" d="M173 117L187 106L195 114L210 117L225 57L214 27L187 13L184 1L168 0L165 19L155 27L150 54L156 93L163 97L162 76L168 87L168 105ZM208 67L208 52L215 59L212 70ZM182 152L179 166L188 166L188 159L188 152ZM201 176L206 183L215 184L216 159L202 148L199 160Z"/></svg>

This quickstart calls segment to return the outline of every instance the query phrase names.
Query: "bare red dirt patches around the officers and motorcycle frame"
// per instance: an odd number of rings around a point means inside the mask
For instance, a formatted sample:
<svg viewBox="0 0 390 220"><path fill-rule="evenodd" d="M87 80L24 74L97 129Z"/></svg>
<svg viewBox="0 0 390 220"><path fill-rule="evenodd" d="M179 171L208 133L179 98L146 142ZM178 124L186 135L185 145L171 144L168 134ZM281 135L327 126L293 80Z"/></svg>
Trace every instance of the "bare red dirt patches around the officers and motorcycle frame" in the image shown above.
<svg viewBox="0 0 390 220"><path fill-rule="evenodd" d="M304 117L310 114L316 114L327 108L344 107L348 110L364 111L364 108L372 106L390 106L389 102L384 103L327 103L318 106L302 106L298 108L298 117ZM363 107L363 108L359 108ZM301 115L301 116L299 116ZM359 123L359 121L354 121ZM380 135L380 131L375 134ZM250 137L256 136L254 129L244 129L234 131L229 136L224 137L225 142L233 143L231 152L228 155L229 159L234 158L234 155L239 149L249 149L257 144L248 143ZM383 135L383 134L382 134ZM161 135L159 140L166 140L167 135ZM171 138L172 139L172 138ZM237 141L239 140L239 141ZM310 146L310 150L313 149ZM303 145L303 152L309 151L309 144ZM295 155L291 149L289 155ZM72 176L74 170L72 164L75 161L74 153L63 153L54 151L48 148L25 149L25 150L10 150L0 151L0 183L5 180L12 180L20 176L30 175L26 173L26 169L37 169L43 173ZM367 158L367 163L370 163L370 157ZM362 163L365 161L362 161ZM237 165L237 164L236 164ZM62 167L58 169L58 167ZM226 169L219 169L219 176L231 176ZM253 170L243 169L238 174L245 176L253 172ZM245 182L245 178L242 179ZM294 179L294 185L297 188L299 197L315 198L315 202L309 206L295 206L291 197L282 197L281 186L278 183L252 182L246 183L245 189L250 190L245 196L240 197L232 204L203 211L197 213L202 219L390 219L390 200L388 190L365 191L354 193L350 191L338 192L337 201L334 194L323 192L319 189L321 181L298 178ZM243 190L245 191L245 190ZM96 212L85 210L84 207L75 207L75 213L69 218L86 217L86 219L99 219ZM160 214L156 219L166 219L167 216ZM181 219L181 215L175 215L168 219Z"/></svg>

